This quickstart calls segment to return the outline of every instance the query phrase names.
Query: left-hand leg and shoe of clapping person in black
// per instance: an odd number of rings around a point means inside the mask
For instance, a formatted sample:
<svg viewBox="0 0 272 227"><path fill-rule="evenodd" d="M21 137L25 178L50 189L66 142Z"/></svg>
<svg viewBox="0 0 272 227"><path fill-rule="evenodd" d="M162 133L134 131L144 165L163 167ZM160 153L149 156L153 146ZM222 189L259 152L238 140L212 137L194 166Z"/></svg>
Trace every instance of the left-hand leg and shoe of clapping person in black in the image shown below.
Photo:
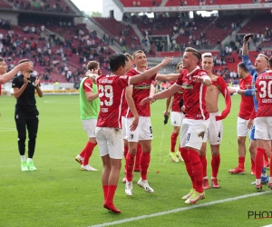
<svg viewBox="0 0 272 227"><path fill-rule="evenodd" d="M26 139L26 120L23 115L15 114L15 123L18 133L18 149L21 159L21 168L22 171L28 171L27 163L25 160L25 139Z"/></svg>

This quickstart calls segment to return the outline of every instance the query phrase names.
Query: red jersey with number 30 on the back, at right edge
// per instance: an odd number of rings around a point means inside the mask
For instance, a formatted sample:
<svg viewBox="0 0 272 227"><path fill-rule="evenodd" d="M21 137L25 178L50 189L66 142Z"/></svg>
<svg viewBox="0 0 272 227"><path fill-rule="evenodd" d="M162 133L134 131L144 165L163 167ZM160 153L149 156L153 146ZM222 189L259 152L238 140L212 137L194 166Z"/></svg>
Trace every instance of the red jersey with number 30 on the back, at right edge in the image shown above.
<svg viewBox="0 0 272 227"><path fill-rule="evenodd" d="M272 116L272 71L257 76L257 117Z"/></svg>

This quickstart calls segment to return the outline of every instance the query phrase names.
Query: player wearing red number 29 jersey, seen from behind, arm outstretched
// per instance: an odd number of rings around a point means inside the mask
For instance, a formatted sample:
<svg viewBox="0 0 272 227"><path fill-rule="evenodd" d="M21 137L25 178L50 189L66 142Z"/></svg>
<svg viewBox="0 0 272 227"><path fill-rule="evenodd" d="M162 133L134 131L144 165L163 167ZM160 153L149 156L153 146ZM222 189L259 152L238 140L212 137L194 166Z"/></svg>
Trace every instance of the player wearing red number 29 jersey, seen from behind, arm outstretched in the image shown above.
<svg viewBox="0 0 272 227"><path fill-rule="evenodd" d="M123 155L121 103L125 95L124 88L130 84L136 84L150 78L170 61L171 58L166 58L150 70L130 77L124 75L127 72L128 58L124 54L112 54L109 57L112 74L101 75L96 79L100 99L100 113L98 115L95 136L103 163L103 207L112 212L121 212L114 206L113 197L118 185ZM131 125L131 130L134 129L134 125Z"/></svg>

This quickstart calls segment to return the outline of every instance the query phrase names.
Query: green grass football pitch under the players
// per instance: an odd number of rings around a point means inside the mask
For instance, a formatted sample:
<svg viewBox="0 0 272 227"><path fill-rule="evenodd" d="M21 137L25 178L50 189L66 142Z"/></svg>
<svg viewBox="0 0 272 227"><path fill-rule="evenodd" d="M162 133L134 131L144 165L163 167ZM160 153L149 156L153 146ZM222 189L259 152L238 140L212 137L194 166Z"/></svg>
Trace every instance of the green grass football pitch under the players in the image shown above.
<svg viewBox="0 0 272 227"><path fill-rule="evenodd" d="M93 151L90 163L99 169L99 172L82 172L80 165L74 161L75 155L82 151L87 142L80 119L79 96L46 95L42 99L36 99L40 112L34 155L37 171L23 173L17 151L15 98L0 97L1 227L87 227L108 222L130 227L264 226L271 223L272 219L254 219L252 216L248 218L250 211L270 212L271 216L271 192L231 200L241 195L256 193L255 187L250 185L255 179L250 175L249 153L245 175L228 173L228 169L238 164L238 95L232 96L231 113L224 120L219 168L221 188L206 190L206 199L196 205L188 205L181 200L191 186L184 163L172 163L168 157L172 126L170 123L163 124L165 101L156 101L151 105L154 140L148 179L155 192L149 194L138 187L140 174L134 173L134 195L126 196L124 184L121 183L124 175L122 161L120 183L114 200L117 208L121 209L121 214L114 214L102 207L102 161L98 148ZM219 101L222 110L224 101L221 98ZM207 160L210 178L209 149ZM269 191L267 185L264 185L264 191ZM170 212L175 209L180 210ZM160 212L169 213L158 215ZM141 217L151 214L156 215ZM118 222L135 217L141 217L141 220Z"/></svg>

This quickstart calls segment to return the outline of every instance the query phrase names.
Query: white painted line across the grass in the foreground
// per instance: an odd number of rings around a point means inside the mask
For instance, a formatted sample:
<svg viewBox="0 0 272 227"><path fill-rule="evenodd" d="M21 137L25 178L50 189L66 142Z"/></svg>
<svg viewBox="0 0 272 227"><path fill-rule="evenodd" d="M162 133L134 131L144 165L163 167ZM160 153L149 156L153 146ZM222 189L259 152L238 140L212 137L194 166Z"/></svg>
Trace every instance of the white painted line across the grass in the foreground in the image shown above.
<svg viewBox="0 0 272 227"><path fill-rule="evenodd" d="M199 208L199 207L210 206L210 205L214 205L214 204L218 204L218 203L233 202L233 201L237 201L237 200L241 200L241 199L247 199L249 197L262 195L262 194L270 193L270 192L272 192L272 191L255 192L255 193L252 193L252 194L244 194L244 195L240 195L240 196L237 196L237 197L228 198L228 199L224 199L224 200L206 202L206 203L201 203L201 204L197 204L197 205L191 205L189 207L182 207L182 208L170 210L170 211L167 211L167 212L156 212L156 213L152 213L152 214L148 214L148 215L141 215L139 217L127 218L127 219L123 219L123 220L119 220L119 221L115 221L115 222L106 222L106 223L92 225L92 226L88 226L88 227L103 227L103 226L111 226L111 225L115 225L115 224L121 224L121 223L125 223L125 222L133 222L133 221L138 221L138 220L147 219L147 218L159 217L159 216L174 213L174 212L184 212L184 211L196 209L196 208Z"/></svg>

